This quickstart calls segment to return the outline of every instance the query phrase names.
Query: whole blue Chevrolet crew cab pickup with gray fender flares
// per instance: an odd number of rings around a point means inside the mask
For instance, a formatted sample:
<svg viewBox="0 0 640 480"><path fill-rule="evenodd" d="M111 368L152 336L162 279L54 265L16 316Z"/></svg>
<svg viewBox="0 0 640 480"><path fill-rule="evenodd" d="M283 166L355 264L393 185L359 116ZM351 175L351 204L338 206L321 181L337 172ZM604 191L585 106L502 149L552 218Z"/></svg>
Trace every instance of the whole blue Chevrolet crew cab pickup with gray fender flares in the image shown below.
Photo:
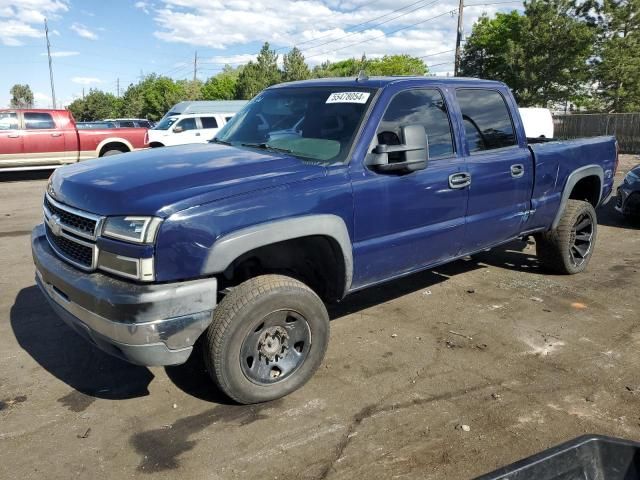
<svg viewBox="0 0 640 480"><path fill-rule="evenodd" d="M583 271L616 141L535 141L499 82L273 86L210 144L56 170L36 281L103 350L197 350L231 398L272 400L318 368L325 305L351 292L530 235L543 266Z"/></svg>

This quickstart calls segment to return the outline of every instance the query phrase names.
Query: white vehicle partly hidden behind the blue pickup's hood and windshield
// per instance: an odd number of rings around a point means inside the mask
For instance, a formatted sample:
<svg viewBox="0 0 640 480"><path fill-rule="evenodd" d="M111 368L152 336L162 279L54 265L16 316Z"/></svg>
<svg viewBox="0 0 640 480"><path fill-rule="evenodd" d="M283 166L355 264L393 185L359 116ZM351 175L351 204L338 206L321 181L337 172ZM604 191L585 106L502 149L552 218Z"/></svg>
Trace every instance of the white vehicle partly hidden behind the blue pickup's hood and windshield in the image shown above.
<svg viewBox="0 0 640 480"><path fill-rule="evenodd" d="M149 146L154 148L187 143L207 143L233 115L233 113L166 115L155 127L147 131Z"/></svg>

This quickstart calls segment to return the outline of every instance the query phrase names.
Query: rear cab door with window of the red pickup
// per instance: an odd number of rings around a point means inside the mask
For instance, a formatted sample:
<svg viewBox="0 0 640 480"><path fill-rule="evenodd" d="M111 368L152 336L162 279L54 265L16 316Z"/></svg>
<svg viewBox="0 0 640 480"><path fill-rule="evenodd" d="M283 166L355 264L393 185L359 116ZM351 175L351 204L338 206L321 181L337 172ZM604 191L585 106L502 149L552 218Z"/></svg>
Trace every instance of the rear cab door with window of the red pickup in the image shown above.
<svg viewBox="0 0 640 480"><path fill-rule="evenodd" d="M63 132L49 112L24 112L24 153L29 165L57 165L67 152Z"/></svg>

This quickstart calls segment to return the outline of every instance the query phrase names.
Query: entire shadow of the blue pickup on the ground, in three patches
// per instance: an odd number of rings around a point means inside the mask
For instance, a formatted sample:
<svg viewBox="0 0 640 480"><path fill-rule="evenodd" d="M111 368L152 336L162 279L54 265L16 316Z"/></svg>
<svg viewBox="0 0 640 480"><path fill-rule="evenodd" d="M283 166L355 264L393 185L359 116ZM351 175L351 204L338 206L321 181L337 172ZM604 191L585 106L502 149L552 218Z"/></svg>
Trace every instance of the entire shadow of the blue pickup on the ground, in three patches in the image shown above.
<svg viewBox="0 0 640 480"><path fill-rule="evenodd" d="M527 242L505 246L356 292L329 307L332 320L444 282L455 275L487 266L538 273L534 255L524 252ZM128 399L149 394L154 376L149 369L111 357L91 345L60 320L36 286L21 290L11 308L11 326L20 346L45 370L77 392L103 399ZM233 404L213 385L202 361L200 344L184 365L165 368L180 390L201 400ZM69 398L67 398L69 397ZM70 408L86 399L60 399Z"/></svg>

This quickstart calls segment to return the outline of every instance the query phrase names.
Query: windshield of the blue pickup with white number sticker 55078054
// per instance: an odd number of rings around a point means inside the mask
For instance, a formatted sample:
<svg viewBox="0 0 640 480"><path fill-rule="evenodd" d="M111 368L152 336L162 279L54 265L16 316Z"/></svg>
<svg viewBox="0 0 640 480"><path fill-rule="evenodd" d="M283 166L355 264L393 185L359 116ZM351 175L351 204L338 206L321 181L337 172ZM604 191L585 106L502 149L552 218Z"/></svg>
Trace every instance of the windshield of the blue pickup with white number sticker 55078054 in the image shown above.
<svg viewBox="0 0 640 480"><path fill-rule="evenodd" d="M265 90L235 114L214 142L343 162L374 89L302 87Z"/></svg>

